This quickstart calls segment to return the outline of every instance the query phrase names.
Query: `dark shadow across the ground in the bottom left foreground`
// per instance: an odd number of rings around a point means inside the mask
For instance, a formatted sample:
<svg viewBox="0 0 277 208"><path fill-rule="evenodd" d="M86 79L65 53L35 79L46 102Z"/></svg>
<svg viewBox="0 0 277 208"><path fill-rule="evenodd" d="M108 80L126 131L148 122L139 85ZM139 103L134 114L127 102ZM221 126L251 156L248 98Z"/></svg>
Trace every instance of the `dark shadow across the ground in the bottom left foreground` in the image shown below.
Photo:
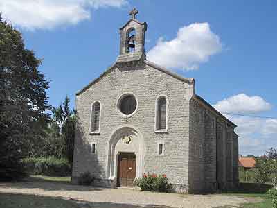
<svg viewBox="0 0 277 208"><path fill-rule="evenodd" d="M5 208L169 208L163 205L132 205L114 202L86 202L60 197L1 193L0 207Z"/></svg>

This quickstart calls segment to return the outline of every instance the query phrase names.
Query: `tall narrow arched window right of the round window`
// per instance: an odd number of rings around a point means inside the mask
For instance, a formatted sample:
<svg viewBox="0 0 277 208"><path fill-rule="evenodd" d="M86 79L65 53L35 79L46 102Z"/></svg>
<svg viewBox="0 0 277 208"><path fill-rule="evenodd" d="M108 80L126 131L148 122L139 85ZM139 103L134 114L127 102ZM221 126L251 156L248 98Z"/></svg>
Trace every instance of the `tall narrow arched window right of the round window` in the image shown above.
<svg viewBox="0 0 277 208"><path fill-rule="evenodd" d="M167 130L166 119L166 97L161 96L157 99L157 112L156 112L156 130Z"/></svg>

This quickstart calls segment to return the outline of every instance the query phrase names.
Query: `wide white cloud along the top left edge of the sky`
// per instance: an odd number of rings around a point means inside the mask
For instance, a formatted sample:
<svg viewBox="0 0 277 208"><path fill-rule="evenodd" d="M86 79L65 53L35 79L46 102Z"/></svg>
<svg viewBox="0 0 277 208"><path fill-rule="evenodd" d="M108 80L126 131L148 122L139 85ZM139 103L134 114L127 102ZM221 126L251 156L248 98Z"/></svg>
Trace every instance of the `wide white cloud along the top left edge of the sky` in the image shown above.
<svg viewBox="0 0 277 208"><path fill-rule="evenodd" d="M91 8L120 7L127 0L0 0L0 12L15 26L30 30L77 24Z"/></svg>

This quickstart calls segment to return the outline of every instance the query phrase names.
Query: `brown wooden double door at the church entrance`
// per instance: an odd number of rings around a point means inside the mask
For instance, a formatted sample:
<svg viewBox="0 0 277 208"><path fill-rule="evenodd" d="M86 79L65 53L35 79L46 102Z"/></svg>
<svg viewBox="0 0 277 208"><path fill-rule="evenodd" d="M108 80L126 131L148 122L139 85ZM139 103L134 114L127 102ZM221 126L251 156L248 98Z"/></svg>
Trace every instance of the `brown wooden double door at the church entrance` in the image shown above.
<svg viewBox="0 0 277 208"><path fill-rule="evenodd" d="M134 153L120 153L118 155L119 187L134 187L136 177L136 155Z"/></svg>

